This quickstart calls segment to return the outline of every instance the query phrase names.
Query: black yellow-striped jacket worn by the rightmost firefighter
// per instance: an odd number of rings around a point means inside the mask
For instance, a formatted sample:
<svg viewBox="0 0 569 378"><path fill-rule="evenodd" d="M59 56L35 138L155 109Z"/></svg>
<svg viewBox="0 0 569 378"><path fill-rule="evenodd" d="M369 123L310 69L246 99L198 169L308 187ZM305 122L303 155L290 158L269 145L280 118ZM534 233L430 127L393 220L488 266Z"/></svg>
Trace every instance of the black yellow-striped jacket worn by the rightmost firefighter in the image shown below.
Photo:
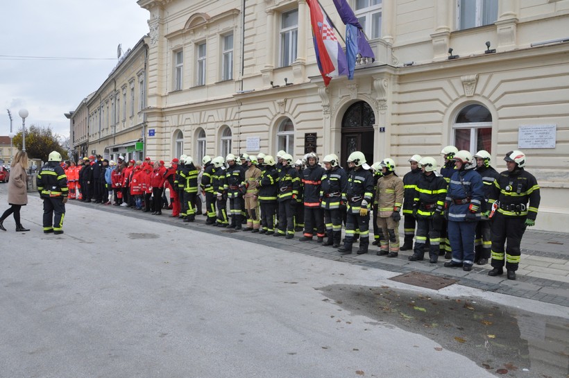
<svg viewBox="0 0 569 378"><path fill-rule="evenodd" d="M535 221L540 200L539 186L534 175L518 168L513 172L500 173L494 181L488 202L498 201L497 211L500 214L527 217Z"/></svg>

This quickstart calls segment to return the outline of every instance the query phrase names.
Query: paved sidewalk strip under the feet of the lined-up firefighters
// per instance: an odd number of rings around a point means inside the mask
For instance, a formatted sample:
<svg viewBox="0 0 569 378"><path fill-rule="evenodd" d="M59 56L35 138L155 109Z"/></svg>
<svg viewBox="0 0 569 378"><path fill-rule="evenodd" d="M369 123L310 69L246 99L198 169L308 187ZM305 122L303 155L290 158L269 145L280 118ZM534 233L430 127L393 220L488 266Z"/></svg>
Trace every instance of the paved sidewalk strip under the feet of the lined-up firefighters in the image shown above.
<svg viewBox="0 0 569 378"><path fill-rule="evenodd" d="M522 298L532 298L541 302L561 304L569 307L569 233L545 232L528 228L522 240L522 256L517 280L507 280L505 274L498 277L488 275L490 264L475 265L473 270L465 272L457 268L445 268L445 259L440 258L438 264L425 261L409 261L407 257L412 251L399 252L396 258L380 257L375 255L379 248L370 245L366 255L339 255L336 249L322 246L316 241L300 242L301 235L297 232L294 239L276 238L263 234L253 234L236 230L221 229L205 225L205 216L196 216L194 223L184 223L181 219L172 218L170 210L162 210L162 216L152 216L151 213L142 213L135 210L104 206L94 203L80 203L70 200L67 206L92 207L94 211L122 213L125 216L146 218L148 221L169 223L171 225L191 228L192 230L223 235L223 237L241 239L252 243L263 244L282 250L303 253L325 259L345 261L348 264L357 264L366 268L378 268L394 273L422 272L448 277L458 280L457 284L477 289L494 291ZM402 231L402 226L401 226ZM372 237L373 238L373 237ZM401 234L402 238L402 234ZM316 238L314 238L316 239ZM357 243L354 250L357 250Z"/></svg>

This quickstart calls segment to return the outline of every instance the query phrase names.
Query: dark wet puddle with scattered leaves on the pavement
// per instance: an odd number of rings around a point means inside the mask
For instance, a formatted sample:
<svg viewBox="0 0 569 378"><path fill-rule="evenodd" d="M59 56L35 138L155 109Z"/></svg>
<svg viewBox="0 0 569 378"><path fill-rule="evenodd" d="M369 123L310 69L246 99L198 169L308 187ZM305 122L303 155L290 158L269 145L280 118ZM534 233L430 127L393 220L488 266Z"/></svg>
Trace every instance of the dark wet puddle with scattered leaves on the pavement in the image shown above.
<svg viewBox="0 0 569 378"><path fill-rule="evenodd" d="M389 286L319 288L355 315L421 334L498 377L569 377L569 320Z"/></svg>

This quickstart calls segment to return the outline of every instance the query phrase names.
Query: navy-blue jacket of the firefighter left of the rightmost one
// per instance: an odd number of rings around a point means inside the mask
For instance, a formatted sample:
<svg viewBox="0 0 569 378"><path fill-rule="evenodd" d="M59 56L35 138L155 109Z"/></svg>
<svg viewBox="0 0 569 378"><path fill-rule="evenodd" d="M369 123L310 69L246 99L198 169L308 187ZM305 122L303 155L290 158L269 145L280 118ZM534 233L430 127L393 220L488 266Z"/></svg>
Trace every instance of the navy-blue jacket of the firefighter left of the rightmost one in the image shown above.
<svg viewBox="0 0 569 378"><path fill-rule="evenodd" d="M448 220L453 222L479 221L484 202L482 176L474 169L455 170L446 192Z"/></svg>

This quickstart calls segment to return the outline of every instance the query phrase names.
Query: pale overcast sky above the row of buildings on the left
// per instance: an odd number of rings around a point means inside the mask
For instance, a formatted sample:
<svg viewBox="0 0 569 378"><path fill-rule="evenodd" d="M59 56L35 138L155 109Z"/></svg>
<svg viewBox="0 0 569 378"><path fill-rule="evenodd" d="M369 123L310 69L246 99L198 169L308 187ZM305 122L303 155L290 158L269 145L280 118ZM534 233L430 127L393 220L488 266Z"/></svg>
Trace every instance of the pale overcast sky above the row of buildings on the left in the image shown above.
<svg viewBox="0 0 569 378"><path fill-rule="evenodd" d="M117 46L133 48L150 17L136 0L1 1L0 13L0 135L10 133L7 109L17 133L25 108L26 128L62 137L69 137L64 114L99 89L117 65Z"/></svg>

